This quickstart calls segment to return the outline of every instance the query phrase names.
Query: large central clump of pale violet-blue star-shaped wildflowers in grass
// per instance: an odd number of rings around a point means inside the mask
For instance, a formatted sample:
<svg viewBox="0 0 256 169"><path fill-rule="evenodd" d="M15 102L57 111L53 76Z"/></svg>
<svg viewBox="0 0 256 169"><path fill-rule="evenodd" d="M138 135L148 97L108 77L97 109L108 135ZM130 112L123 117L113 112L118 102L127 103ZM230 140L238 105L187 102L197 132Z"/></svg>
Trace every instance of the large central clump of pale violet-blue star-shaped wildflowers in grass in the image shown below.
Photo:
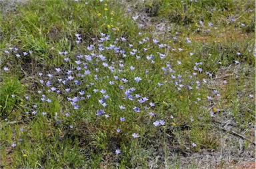
<svg viewBox="0 0 256 169"><path fill-rule="evenodd" d="M83 40L81 35L75 36ZM53 118L57 124L65 123L71 128L78 116L90 116L91 120L101 121L98 124L101 130L111 125L114 130L108 128L109 134L130 139L143 132L134 128L138 118L145 118L147 125L168 126L181 118L182 106L197 112L191 114L194 120L213 116L205 109L213 98L203 88L209 81L207 77L212 75L204 73L202 62L195 63L191 73L181 72L182 61L171 62L171 55L167 53L174 55L183 50L176 51L160 43L161 40L149 37L127 44L128 48L125 41L124 37L100 33L79 55L60 51L63 65L37 74L40 87L34 99L39 103L28 108L28 114L35 118ZM168 106L156 104L159 101L171 103L170 95L175 98L173 106L177 107L177 112L171 112L172 116L165 110ZM217 96L220 98L220 94Z"/></svg>

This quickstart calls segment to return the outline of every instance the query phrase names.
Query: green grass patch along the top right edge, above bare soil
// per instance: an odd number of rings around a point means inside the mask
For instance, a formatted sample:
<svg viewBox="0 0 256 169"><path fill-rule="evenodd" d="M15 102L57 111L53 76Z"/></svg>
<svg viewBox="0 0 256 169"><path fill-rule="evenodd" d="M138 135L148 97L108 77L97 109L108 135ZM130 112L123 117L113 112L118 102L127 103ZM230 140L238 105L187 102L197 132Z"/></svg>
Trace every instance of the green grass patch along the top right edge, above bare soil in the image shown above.
<svg viewBox="0 0 256 169"><path fill-rule="evenodd" d="M199 1L165 1L159 2L159 15L170 19L173 23L180 25L193 25L198 21L203 22L218 22L219 19L224 17L232 17L237 14L237 8L242 7L248 9L253 7L253 1L243 3L242 1L211 1L211 0L199 0ZM241 15L245 17L247 11ZM252 17L252 16L251 16ZM253 18L250 21L253 24ZM250 26L251 27L251 26ZM252 29L253 31L253 29Z"/></svg>

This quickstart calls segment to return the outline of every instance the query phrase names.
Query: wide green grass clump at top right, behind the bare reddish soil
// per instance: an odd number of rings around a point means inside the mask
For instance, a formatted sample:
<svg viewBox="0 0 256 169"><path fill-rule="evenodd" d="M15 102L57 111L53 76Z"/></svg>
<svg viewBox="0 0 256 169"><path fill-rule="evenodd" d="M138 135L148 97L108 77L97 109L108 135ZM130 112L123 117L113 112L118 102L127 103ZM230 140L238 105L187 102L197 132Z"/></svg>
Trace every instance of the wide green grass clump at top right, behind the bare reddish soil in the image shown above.
<svg viewBox="0 0 256 169"><path fill-rule="evenodd" d="M192 29L199 27L200 23L213 23L231 25L235 18L243 26L243 30L253 32L255 29L255 17L250 15L255 6L253 1L146 1L145 6L149 7L148 13L152 16L159 16L169 19L171 23L189 26ZM245 11L239 13L239 10ZM249 10L248 10L249 9ZM247 19L245 19L247 18ZM245 26L246 25L246 26ZM233 26L233 25L232 25Z"/></svg>

